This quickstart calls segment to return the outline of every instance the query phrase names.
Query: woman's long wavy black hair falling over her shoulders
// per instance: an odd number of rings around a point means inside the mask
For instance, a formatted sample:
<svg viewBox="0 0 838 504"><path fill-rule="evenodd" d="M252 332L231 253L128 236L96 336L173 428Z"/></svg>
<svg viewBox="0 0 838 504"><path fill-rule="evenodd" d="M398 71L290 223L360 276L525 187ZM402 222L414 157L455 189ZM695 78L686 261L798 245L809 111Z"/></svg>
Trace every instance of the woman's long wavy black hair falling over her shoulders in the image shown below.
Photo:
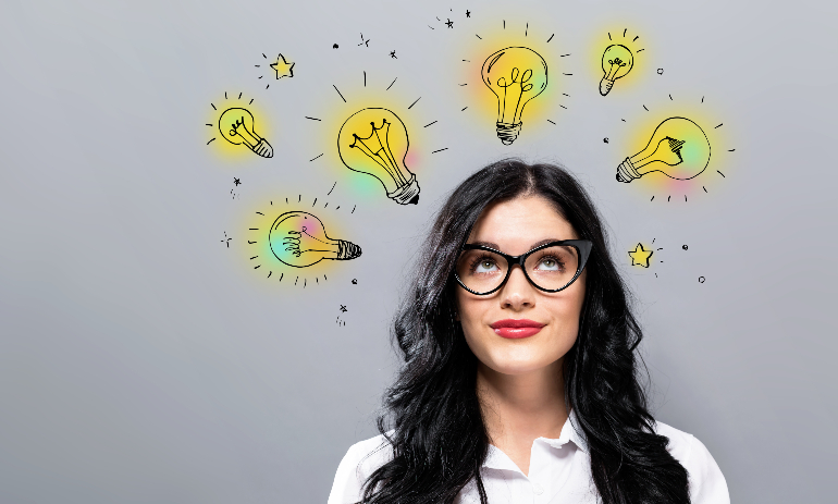
<svg viewBox="0 0 838 504"><path fill-rule="evenodd" d="M587 438L602 502L689 503L687 470L667 452L667 438L652 430L634 355L642 333L596 210L564 169L515 159L491 164L454 189L419 255L394 323L404 365L378 421L393 459L367 479L362 502L452 503L475 480L481 504L488 503L478 362L455 321L452 272L483 209L522 195L552 201L580 238L593 242L579 335L565 357L565 401Z"/></svg>

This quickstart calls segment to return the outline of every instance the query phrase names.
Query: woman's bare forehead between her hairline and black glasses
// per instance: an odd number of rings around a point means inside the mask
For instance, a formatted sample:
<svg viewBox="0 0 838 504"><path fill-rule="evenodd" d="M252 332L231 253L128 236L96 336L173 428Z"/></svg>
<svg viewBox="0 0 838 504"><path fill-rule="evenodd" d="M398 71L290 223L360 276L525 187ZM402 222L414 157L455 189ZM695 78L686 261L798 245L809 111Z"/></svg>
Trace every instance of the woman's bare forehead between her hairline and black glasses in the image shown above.
<svg viewBox="0 0 838 504"><path fill-rule="evenodd" d="M468 241L496 244L507 254L523 254L538 242L577 237L570 223L547 199L523 196L486 207Z"/></svg>

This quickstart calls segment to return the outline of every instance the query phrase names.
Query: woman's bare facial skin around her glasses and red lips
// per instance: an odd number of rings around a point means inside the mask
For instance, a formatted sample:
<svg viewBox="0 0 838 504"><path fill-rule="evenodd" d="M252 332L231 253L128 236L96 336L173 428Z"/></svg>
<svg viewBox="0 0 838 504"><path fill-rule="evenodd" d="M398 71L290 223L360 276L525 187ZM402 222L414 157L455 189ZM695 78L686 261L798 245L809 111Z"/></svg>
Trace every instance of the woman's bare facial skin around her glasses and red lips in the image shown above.
<svg viewBox="0 0 838 504"><path fill-rule="evenodd" d="M467 243L519 256L544 242L575 238L578 236L570 223L546 199L525 196L486 207ZM484 366L504 374L526 374L560 365L579 331L584 278L583 272L564 291L546 293L514 267L503 287L488 296L458 286L458 318L469 348ZM543 327L527 335L526 330L503 328L515 325L510 320ZM514 337L521 335L526 337Z"/></svg>

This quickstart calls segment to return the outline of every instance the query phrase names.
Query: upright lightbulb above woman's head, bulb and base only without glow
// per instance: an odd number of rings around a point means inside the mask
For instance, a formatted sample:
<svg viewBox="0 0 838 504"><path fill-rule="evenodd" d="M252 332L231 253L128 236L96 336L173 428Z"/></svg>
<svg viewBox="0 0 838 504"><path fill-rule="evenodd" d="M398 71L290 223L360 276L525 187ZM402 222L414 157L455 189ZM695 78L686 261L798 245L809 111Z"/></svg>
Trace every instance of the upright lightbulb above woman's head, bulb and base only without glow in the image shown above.
<svg viewBox="0 0 838 504"><path fill-rule="evenodd" d="M547 63L527 47L507 47L483 62L483 84L497 97L497 137L510 145L521 132L523 107L547 87Z"/></svg>

